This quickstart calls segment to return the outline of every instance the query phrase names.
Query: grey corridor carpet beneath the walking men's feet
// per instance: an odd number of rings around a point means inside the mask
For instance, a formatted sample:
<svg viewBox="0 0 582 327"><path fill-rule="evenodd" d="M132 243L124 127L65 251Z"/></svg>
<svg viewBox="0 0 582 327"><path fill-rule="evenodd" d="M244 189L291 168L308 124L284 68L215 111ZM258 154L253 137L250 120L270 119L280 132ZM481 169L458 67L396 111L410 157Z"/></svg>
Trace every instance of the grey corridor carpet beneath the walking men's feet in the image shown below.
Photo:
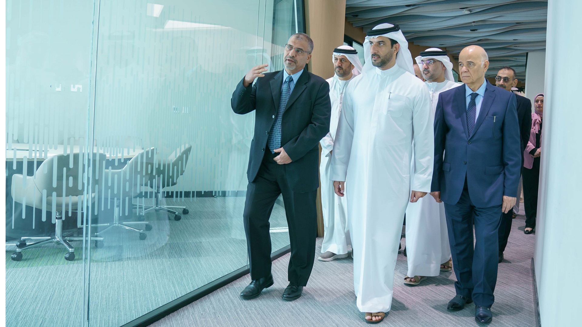
<svg viewBox="0 0 582 327"><path fill-rule="evenodd" d="M535 234L523 233L523 208L513 220L512 233L499 264L495 288L493 322L489 326L535 326L533 286L530 260L533 257ZM317 251L322 239L317 240ZM403 243L404 243L403 239ZM313 272L303 296L286 302L281 293L288 284L289 254L275 260L272 273L275 285L254 300L240 300L238 294L250 281L249 275L230 283L200 300L187 305L152 324L169 326L361 326L363 314L356 308L353 293L353 264L349 258L332 262L315 260ZM421 286L402 283L406 276L406 257L398 255L392 311L381 325L402 327L466 327L474 321L474 304L459 312L449 312L446 304L455 296L455 275L441 272Z"/></svg>

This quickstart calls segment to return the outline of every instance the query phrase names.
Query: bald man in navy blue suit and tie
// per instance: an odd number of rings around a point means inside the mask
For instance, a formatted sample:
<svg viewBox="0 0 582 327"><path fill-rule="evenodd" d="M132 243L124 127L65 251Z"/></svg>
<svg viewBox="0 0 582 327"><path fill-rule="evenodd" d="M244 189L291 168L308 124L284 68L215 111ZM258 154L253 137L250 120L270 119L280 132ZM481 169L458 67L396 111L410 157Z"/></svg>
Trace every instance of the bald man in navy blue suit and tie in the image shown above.
<svg viewBox="0 0 582 327"><path fill-rule="evenodd" d="M516 98L485 80L488 67L483 48L464 48L459 70L465 85L439 94L431 186L435 200L445 202L457 278L447 309L474 301L475 320L484 324L495 300L501 214L517 200L521 166Z"/></svg>

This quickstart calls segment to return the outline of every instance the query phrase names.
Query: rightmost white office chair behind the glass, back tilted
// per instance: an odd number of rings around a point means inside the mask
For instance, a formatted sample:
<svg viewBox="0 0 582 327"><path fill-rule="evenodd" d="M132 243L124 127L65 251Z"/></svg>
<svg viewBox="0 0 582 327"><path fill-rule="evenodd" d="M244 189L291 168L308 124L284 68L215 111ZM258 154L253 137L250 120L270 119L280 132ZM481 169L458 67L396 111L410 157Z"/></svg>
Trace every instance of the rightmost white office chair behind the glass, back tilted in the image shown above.
<svg viewBox="0 0 582 327"><path fill-rule="evenodd" d="M179 221L182 216L178 215L177 211L172 209L182 209L182 214L187 215L188 209L186 207L178 207L174 205L161 205L162 189L169 186L174 186L178 183L178 177L184 175L186 171L186 164L192 146L189 144L182 145L178 150L174 151L168 159L158 161L158 166L155 169L155 174L150 175L150 187L155 191L155 205L146 205L144 214L152 210L166 211L174 215L174 220ZM144 219L144 218L140 218Z"/></svg>

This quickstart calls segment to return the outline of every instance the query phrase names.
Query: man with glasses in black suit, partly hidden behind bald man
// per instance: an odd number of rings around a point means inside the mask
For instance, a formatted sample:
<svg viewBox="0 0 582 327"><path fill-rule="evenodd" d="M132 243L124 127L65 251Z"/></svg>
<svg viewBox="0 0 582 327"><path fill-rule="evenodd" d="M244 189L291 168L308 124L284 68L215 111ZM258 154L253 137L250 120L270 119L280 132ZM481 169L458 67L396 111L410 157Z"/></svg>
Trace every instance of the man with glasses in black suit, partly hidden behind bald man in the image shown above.
<svg viewBox="0 0 582 327"><path fill-rule="evenodd" d="M511 88L516 85L517 77L515 75L515 69L509 66L501 67L497 76L495 76L495 86L511 92ZM517 120L519 122L519 138L521 144L521 167L523 168L523 151L526 148L527 142L530 140L531 101L518 94L515 96L517 98ZM520 195L517 194L518 199L519 197ZM503 251L505 251L505 247L508 245L512 220L513 210L508 211L506 214L502 214L501 225L499 225L499 263L503 261Z"/></svg>

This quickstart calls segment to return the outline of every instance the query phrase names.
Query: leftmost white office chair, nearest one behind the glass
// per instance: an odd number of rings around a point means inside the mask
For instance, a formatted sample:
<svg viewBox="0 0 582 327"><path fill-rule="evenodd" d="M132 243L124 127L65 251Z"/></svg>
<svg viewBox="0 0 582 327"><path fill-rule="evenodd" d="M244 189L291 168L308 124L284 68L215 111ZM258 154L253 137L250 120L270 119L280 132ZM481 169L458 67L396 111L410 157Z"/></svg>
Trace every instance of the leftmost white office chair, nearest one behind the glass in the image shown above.
<svg viewBox="0 0 582 327"><path fill-rule="evenodd" d="M92 156L92 157L91 157ZM38 167L35 176L12 176L12 198L19 203L31 205L42 211L52 211L52 221L56 224L55 235L48 237L22 237L16 243L16 252L12 254L12 260L22 260L22 251L38 247L48 243L59 243L69 251L65 254L68 261L74 260L74 247L68 241L85 240L84 237L70 236L74 232L63 235L63 214L67 211L77 211L81 214L83 205L87 201L95 200L95 193L84 195L85 185L83 176L86 174L84 159L92 161L93 166L87 180L97 184L97 166L105 162L105 154L73 153L59 154L47 158ZM90 215L89 215L90 216ZM87 219L87 215L85 215ZM36 241L28 244L27 240ZM95 240L96 247L102 247L102 237L91 237Z"/></svg>

